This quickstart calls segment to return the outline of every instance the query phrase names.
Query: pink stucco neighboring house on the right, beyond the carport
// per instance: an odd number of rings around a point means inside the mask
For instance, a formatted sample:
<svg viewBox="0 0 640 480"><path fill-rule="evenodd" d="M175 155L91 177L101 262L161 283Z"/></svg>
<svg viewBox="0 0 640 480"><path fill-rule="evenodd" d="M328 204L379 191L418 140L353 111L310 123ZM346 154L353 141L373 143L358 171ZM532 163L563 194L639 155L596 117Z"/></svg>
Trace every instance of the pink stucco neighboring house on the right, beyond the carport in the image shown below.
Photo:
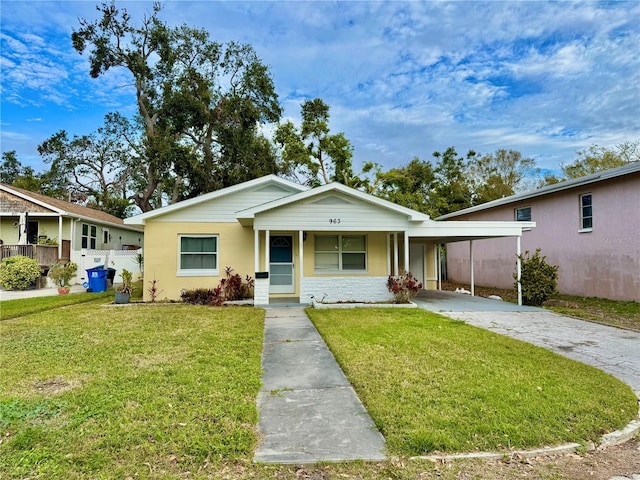
<svg viewBox="0 0 640 480"><path fill-rule="evenodd" d="M523 231L522 252L541 248L547 261L560 267L560 293L640 301L640 162L501 198L437 220L445 219L536 222L536 228ZM513 238L473 242L477 285L513 287L514 242ZM447 244L449 280L468 283L469 258L467 242Z"/></svg>

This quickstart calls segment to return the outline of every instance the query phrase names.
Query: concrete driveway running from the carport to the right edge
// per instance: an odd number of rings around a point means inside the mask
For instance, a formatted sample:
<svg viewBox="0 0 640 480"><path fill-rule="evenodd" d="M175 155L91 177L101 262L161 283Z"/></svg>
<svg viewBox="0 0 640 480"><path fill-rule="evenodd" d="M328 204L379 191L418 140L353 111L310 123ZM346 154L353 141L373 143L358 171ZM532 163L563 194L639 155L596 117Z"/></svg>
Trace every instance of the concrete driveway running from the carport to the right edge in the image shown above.
<svg viewBox="0 0 640 480"><path fill-rule="evenodd" d="M426 310L597 367L630 385L640 396L640 332L453 292L425 292L415 301Z"/></svg>

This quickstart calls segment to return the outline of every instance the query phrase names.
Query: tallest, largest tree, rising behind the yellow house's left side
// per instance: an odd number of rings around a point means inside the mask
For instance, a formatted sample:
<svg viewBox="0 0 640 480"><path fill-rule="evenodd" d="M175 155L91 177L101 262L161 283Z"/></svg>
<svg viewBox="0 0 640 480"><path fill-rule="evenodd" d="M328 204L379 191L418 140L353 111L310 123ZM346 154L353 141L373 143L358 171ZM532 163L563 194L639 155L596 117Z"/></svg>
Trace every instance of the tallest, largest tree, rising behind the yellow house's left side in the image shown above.
<svg viewBox="0 0 640 480"><path fill-rule="evenodd" d="M281 111L268 69L250 45L221 45L185 25L169 28L159 19L159 3L140 26L114 2L97 10L99 20L80 20L73 46L80 54L89 50L93 78L111 68L133 78L138 117L118 123L135 152L128 188L143 212L246 179L219 175L240 150L223 142L249 139L261 160L271 162L268 170L277 170L258 131Z"/></svg>

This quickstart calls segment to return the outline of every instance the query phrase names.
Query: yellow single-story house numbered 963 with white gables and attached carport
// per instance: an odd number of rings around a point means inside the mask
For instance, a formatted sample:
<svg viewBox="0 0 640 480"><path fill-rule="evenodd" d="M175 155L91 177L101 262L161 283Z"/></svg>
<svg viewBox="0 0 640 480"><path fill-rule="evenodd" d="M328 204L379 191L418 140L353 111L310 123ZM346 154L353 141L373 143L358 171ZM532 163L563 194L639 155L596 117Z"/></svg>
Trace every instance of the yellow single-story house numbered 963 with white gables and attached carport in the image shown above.
<svg viewBox="0 0 640 480"><path fill-rule="evenodd" d="M231 267L255 278L256 305L278 297L302 303L388 300L388 276L403 270L436 289L438 245L519 238L523 228L535 227L436 222L339 183L309 188L274 175L130 217L125 224L144 226L145 281L156 279L167 298L179 299L183 289L213 288Z"/></svg>

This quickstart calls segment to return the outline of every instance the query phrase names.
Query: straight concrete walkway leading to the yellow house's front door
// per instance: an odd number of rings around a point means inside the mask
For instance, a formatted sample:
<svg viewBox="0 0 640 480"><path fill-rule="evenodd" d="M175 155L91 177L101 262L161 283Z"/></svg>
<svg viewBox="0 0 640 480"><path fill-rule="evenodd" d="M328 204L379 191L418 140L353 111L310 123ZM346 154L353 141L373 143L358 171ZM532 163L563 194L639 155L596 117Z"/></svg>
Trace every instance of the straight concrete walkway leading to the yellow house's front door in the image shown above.
<svg viewBox="0 0 640 480"><path fill-rule="evenodd" d="M384 438L302 307L268 308L254 461L383 460Z"/></svg>

